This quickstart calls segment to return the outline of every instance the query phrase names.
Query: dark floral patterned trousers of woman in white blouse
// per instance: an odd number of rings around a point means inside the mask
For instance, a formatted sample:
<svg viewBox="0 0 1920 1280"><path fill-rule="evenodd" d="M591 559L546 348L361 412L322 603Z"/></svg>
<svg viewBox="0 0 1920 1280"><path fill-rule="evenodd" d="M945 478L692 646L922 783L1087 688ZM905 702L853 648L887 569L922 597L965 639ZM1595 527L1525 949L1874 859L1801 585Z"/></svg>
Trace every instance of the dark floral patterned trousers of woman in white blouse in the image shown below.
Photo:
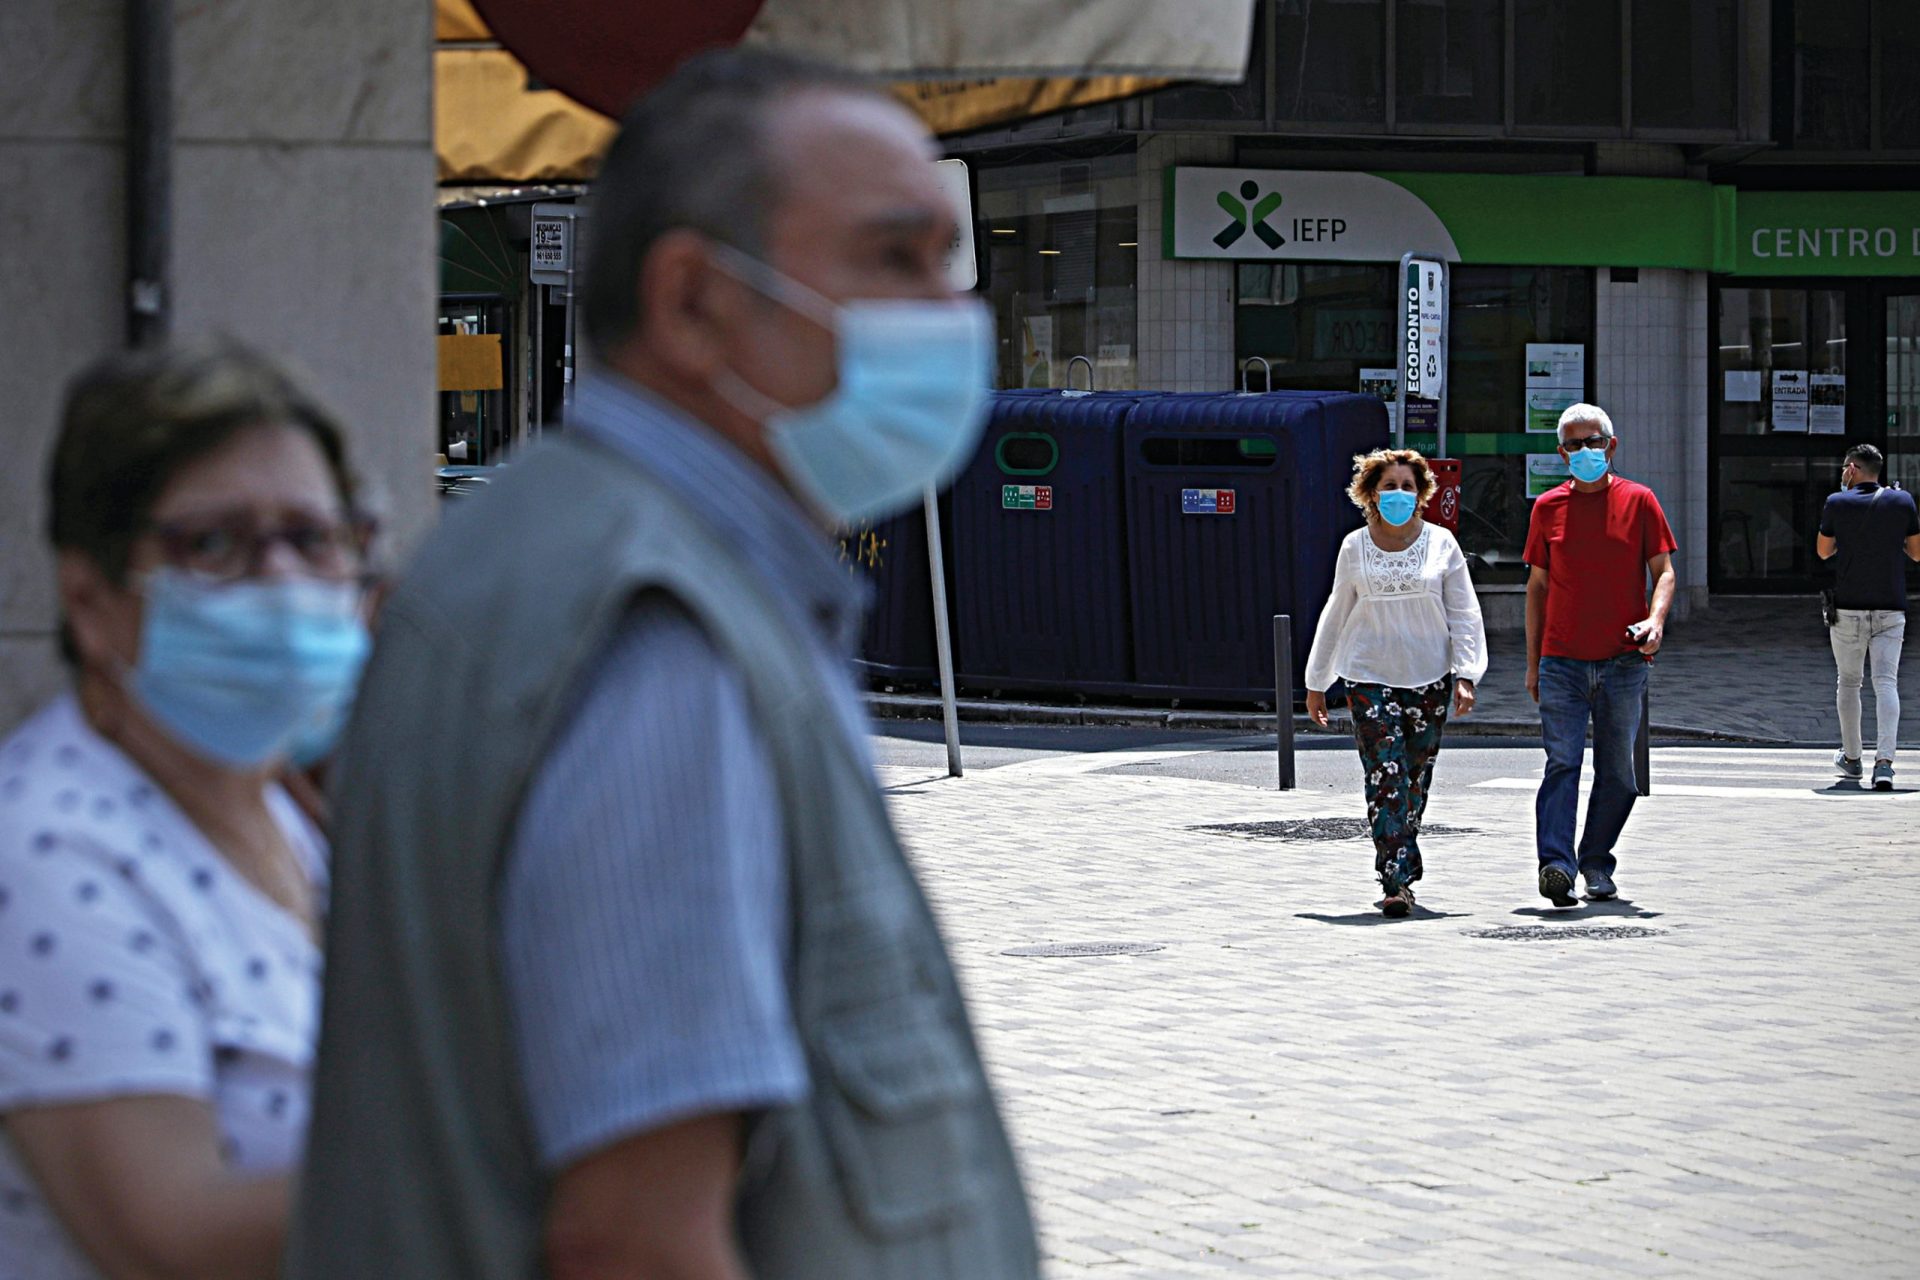
<svg viewBox="0 0 1920 1280"><path fill-rule="evenodd" d="M1453 695L1446 676L1419 689L1348 683L1354 743L1367 771L1367 823L1373 869L1388 894L1421 879L1421 818L1440 754L1440 733Z"/></svg>

